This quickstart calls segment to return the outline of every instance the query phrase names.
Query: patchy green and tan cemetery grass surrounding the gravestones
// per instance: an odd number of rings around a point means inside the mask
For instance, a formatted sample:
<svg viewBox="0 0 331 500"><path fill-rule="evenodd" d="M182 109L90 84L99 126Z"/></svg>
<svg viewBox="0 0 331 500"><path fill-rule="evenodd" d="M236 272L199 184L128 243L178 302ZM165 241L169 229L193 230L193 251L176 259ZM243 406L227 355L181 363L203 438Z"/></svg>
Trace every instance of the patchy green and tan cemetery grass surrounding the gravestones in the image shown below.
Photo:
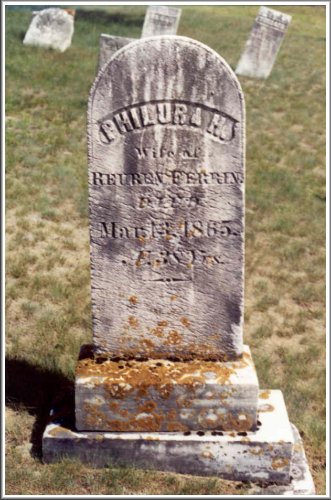
<svg viewBox="0 0 331 500"><path fill-rule="evenodd" d="M70 7L68 5L68 7ZM63 54L25 47L6 8L7 494L245 494L214 478L43 465L51 401L92 336L86 104L100 33L139 37L143 6L77 11ZM325 8L293 16L271 76L240 78L247 113L245 342L281 389L325 492ZM184 6L178 34L235 68L257 6ZM236 489L238 488L238 489Z"/></svg>

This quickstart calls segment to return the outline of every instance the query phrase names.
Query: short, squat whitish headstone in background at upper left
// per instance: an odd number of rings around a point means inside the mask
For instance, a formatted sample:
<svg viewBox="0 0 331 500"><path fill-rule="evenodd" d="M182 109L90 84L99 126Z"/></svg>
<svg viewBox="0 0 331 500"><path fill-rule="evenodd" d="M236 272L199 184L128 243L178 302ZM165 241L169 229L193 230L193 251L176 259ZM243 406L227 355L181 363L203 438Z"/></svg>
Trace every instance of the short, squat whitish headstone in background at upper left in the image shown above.
<svg viewBox="0 0 331 500"><path fill-rule="evenodd" d="M56 8L33 12L23 43L64 52L71 45L74 13L73 10Z"/></svg>

